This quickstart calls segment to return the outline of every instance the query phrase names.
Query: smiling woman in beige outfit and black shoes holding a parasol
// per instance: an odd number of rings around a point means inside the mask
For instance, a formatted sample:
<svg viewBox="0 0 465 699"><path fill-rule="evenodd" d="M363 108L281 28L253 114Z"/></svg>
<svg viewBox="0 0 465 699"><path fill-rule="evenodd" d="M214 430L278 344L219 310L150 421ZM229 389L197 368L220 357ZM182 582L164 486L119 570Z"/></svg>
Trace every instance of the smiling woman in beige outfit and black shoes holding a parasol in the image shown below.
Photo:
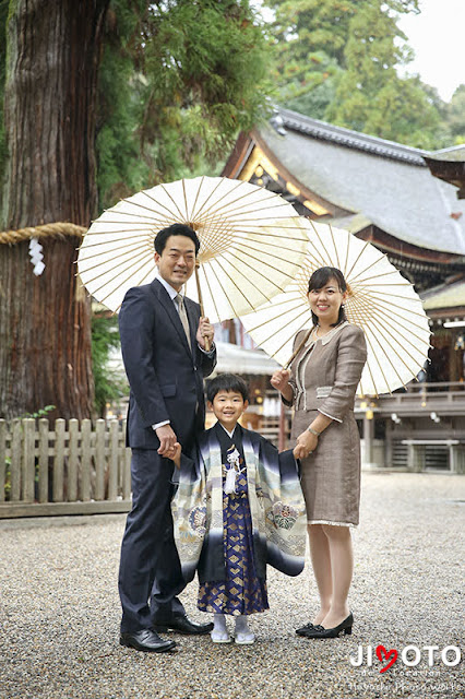
<svg viewBox="0 0 465 699"><path fill-rule="evenodd" d="M300 459L310 554L320 594L313 621L297 629L308 638L351 632L347 596L354 559L350 526L360 500L360 438L354 417L357 386L367 359L363 331L345 316L347 284L342 272L324 266L310 277L308 299L313 327L297 333L300 347L290 370L271 382L294 405L291 439Z"/></svg>

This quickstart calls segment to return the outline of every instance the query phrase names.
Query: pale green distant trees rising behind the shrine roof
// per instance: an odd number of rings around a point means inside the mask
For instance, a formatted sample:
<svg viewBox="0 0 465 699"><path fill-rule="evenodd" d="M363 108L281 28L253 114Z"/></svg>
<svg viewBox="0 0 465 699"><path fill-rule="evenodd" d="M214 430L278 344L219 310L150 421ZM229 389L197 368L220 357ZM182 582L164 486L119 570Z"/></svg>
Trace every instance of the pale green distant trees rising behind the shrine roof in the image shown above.
<svg viewBox="0 0 465 699"><path fill-rule="evenodd" d="M317 119L408 145L436 149L446 131L443 103L418 76L397 14L418 0L269 0L278 42L281 102ZM286 38L286 42L282 39Z"/></svg>

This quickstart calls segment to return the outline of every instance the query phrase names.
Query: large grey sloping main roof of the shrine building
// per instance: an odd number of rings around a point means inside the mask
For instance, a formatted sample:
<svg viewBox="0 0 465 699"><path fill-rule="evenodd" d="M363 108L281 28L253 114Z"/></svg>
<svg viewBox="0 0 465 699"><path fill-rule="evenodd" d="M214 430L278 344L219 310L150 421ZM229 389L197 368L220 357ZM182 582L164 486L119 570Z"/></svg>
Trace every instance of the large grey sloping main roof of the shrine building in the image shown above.
<svg viewBox="0 0 465 699"><path fill-rule="evenodd" d="M259 138L301 186L398 240L465 256L465 201L426 151L279 109Z"/></svg>

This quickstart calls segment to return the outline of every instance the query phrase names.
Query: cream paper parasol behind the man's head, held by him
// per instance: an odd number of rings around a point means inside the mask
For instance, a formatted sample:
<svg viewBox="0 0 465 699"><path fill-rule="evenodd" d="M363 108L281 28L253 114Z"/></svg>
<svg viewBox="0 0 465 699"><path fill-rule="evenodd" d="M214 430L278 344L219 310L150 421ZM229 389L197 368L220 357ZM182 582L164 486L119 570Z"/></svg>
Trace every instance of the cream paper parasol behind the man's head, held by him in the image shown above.
<svg viewBox="0 0 465 699"><path fill-rule="evenodd" d="M92 224L78 259L92 296L117 311L128 288L150 283L154 237L174 223L190 225L200 238L199 280L211 322L281 293L307 248L305 220L278 194L224 177L182 179L124 199ZM194 277L186 294L201 300Z"/></svg>

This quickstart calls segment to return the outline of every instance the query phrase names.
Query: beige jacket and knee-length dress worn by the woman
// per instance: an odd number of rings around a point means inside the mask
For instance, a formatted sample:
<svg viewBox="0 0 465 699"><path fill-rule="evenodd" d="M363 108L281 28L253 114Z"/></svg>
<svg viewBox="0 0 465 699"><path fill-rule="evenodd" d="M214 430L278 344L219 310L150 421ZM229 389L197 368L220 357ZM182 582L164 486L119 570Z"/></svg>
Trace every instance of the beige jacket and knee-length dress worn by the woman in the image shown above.
<svg viewBox="0 0 465 699"><path fill-rule="evenodd" d="M302 340L296 335L295 346ZM291 439L322 413L333 422L318 448L301 460L301 486L310 524L356 526L360 502L360 437L354 416L357 386L367 358L363 331L344 322L321 339L309 339L290 365Z"/></svg>

